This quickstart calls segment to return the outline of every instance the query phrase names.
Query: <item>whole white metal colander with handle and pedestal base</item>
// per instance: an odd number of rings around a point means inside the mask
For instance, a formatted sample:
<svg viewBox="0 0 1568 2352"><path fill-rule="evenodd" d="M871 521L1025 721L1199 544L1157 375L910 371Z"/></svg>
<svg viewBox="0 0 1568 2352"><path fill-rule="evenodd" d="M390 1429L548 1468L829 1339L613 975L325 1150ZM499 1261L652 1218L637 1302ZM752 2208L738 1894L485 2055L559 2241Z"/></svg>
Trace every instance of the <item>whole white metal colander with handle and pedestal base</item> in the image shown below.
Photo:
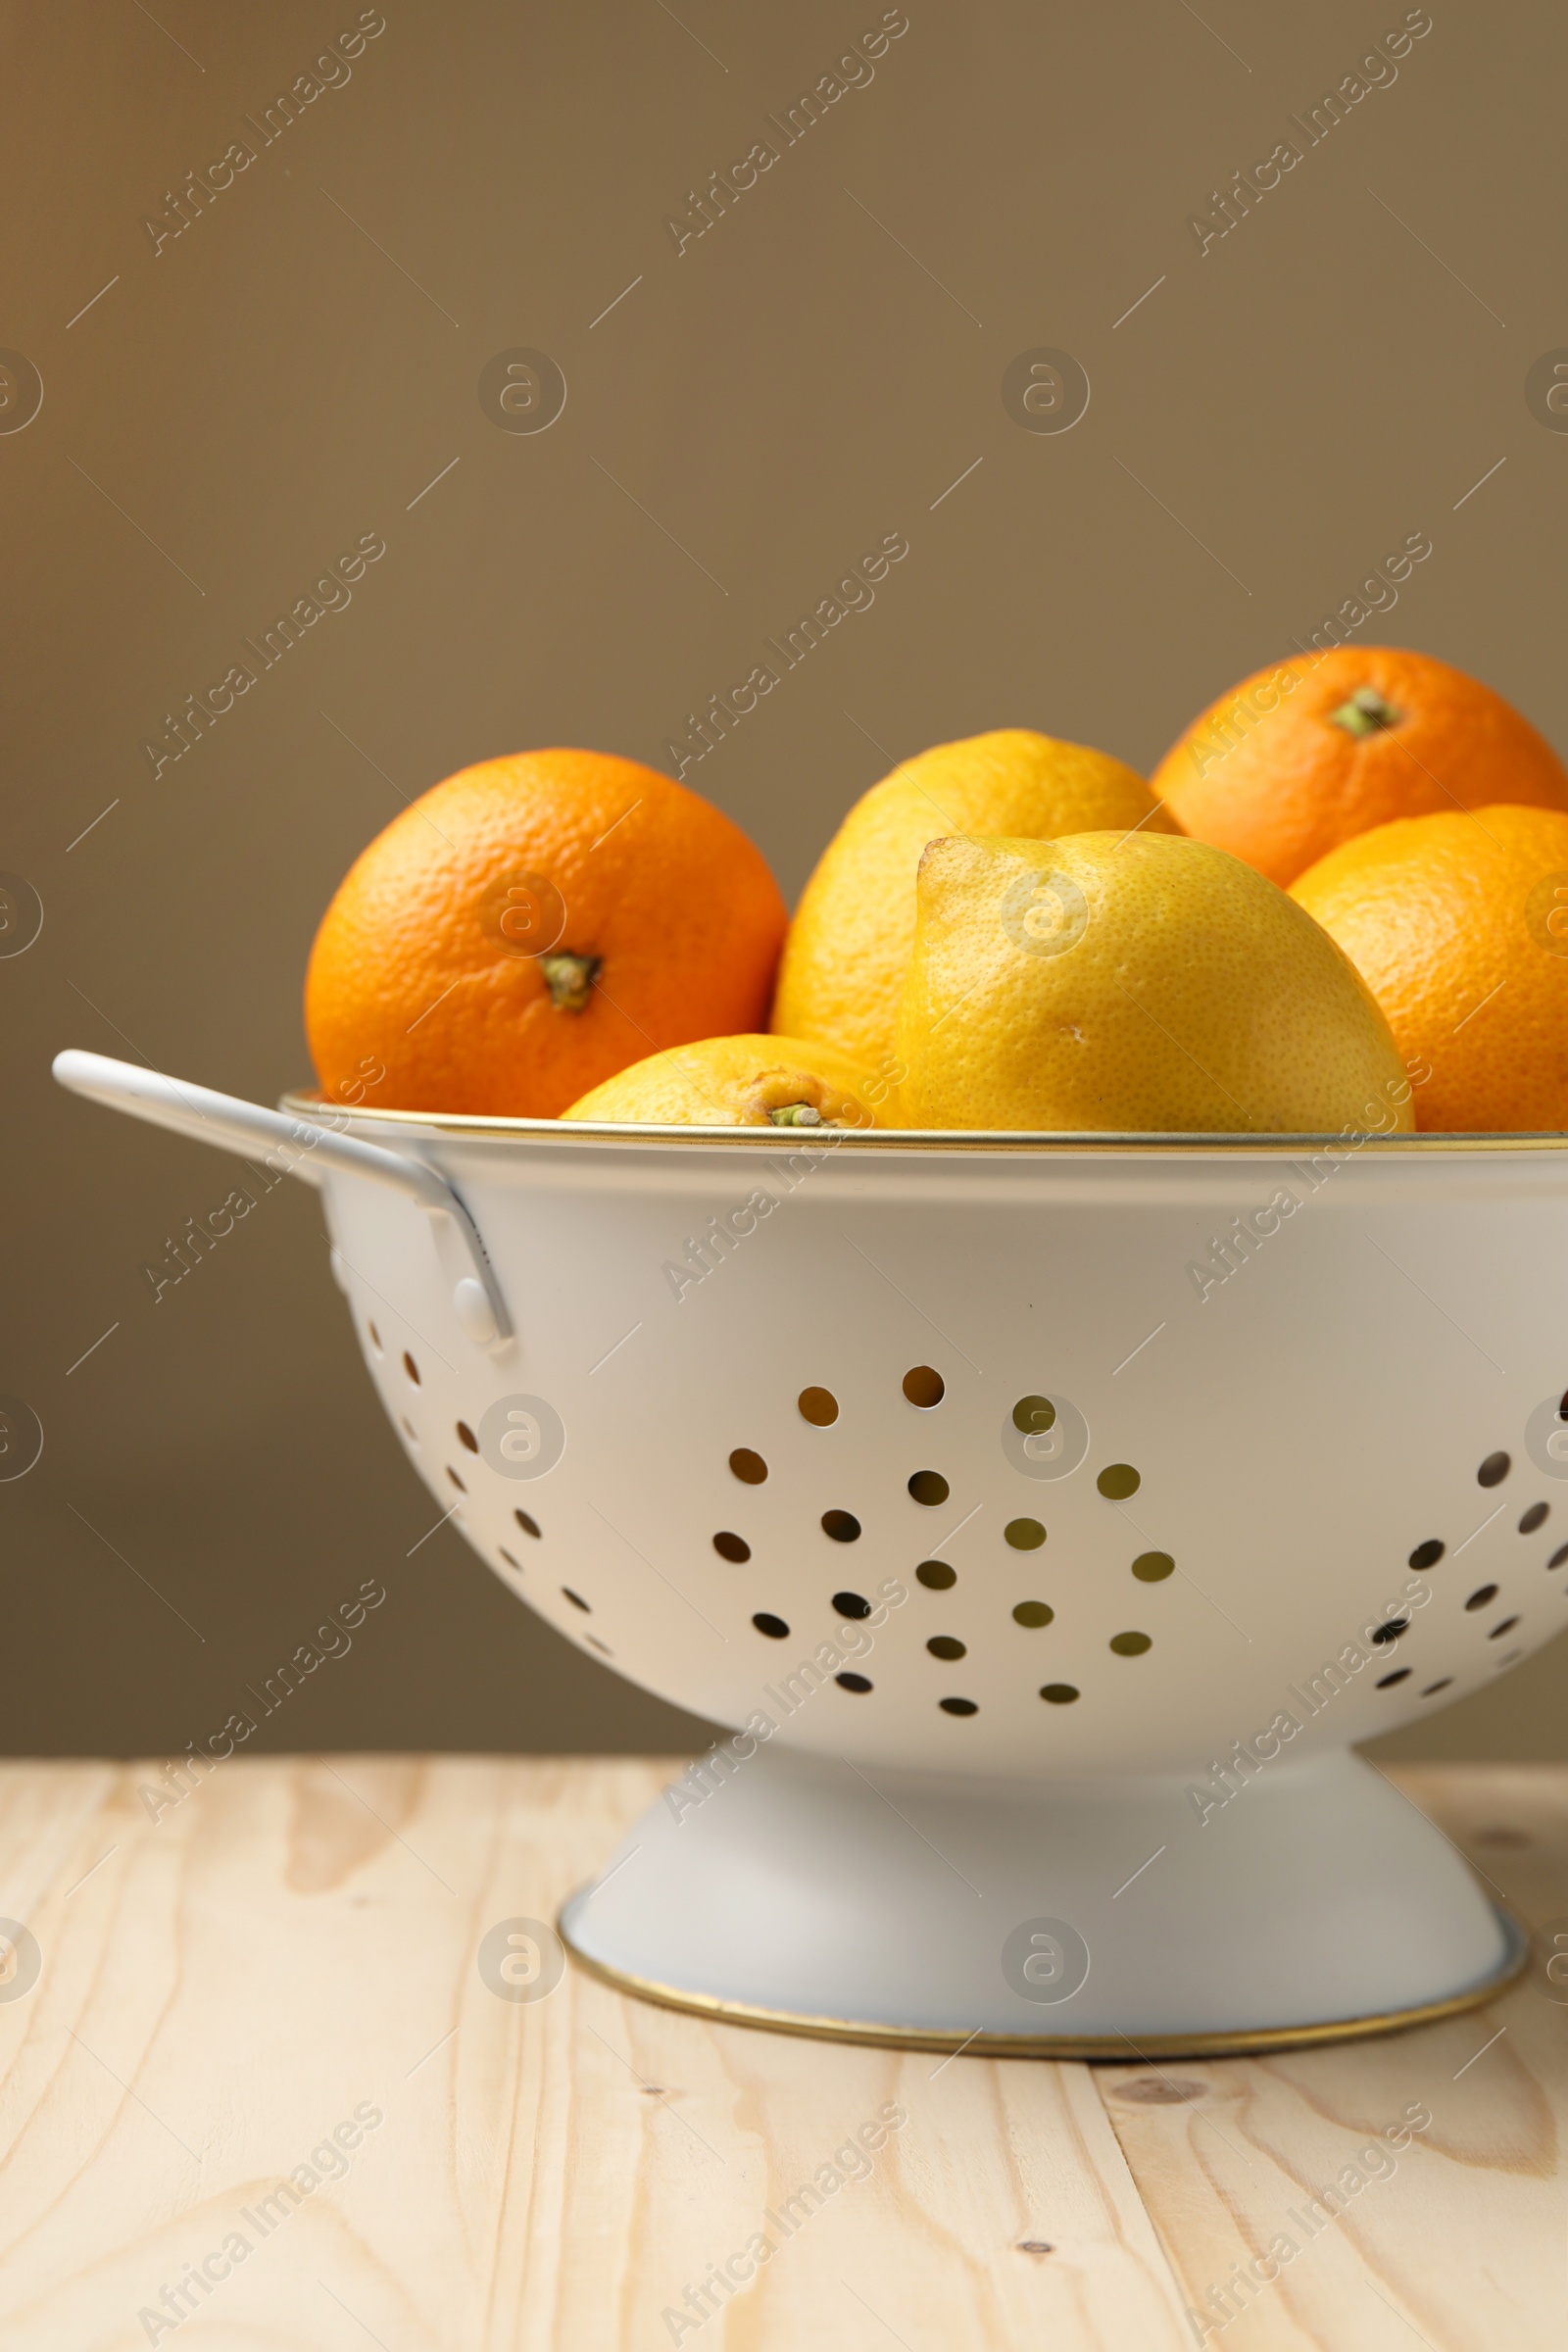
<svg viewBox="0 0 1568 2352"><path fill-rule="evenodd" d="M282 1112L402 1444L736 1733L564 1912L816 2032L1126 2056L1483 1999L1519 1931L1349 1743L1568 1623L1568 1148Z"/></svg>

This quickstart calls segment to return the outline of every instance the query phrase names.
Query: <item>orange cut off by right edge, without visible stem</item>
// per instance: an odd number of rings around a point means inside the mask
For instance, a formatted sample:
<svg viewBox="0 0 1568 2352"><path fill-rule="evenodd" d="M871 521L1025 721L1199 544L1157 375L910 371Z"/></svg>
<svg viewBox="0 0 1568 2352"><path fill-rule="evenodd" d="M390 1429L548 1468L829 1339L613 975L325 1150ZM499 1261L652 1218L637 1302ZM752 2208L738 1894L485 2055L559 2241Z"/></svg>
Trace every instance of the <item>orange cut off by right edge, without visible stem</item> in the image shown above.
<svg viewBox="0 0 1568 2352"><path fill-rule="evenodd" d="M1406 816L1291 896L1378 997L1429 1134L1568 1129L1568 816Z"/></svg>

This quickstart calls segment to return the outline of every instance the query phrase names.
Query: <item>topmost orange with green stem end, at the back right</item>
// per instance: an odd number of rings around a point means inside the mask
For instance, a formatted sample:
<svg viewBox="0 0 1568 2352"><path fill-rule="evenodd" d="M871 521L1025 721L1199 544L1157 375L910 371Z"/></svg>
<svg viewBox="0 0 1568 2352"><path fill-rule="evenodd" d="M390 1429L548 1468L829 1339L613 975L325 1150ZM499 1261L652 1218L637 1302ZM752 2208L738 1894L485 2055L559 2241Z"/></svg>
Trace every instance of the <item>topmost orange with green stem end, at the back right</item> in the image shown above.
<svg viewBox="0 0 1568 2352"><path fill-rule="evenodd" d="M1255 670L1187 727L1150 783L1199 842L1281 887L1396 816L1568 809L1568 769L1512 703L1392 644Z"/></svg>

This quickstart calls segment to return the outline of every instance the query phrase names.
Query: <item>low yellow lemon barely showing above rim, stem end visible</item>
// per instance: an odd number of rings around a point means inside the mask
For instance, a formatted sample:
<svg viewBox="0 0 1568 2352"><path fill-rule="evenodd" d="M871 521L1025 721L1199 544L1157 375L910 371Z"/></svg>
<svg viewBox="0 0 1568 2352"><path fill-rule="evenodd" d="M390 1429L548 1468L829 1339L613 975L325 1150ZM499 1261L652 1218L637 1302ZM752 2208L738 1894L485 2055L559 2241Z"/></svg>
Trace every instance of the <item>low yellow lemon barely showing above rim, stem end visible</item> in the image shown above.
<svg viewBox="0 0 1568 2352"><path fill-rule="evenodd" d="M703 1037L635 1061L562 1110L642 1127L886 1127L886 1080L799 1037Z"/></svg>

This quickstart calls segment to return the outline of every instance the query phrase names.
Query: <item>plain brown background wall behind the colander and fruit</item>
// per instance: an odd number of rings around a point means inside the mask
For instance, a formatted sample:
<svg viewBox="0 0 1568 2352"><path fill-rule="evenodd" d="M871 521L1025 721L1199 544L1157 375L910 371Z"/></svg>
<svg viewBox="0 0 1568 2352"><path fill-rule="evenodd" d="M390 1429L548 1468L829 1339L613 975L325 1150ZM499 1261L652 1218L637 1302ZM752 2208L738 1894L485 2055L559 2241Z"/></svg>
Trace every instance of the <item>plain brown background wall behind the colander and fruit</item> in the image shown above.
<svg viewBox="0 0 1568 2352"><path fill-rule="evenodd" d="M1568 341L1563 19L1432 0L1399 80L1199 256L1187 214L1396 5L907 9L870 87L679 256L665 214L879 7L386 0L353 80L160 254L141 216L355 7L12 16L0 343L45 405L0 437L0 866L47 910L0 962L0 1390L47 1430L0 1486L12 1748L179 1750L369 1573L388 1606L259 1745L698 1733L451 1531L409 1557L430 1501L315 1202L270 1195L153 1305L139 1268L223 1164L47 1075L85 1044L259 1101L301 1080L313 927L400 795L529 743L665 764L884 532L910 557L875 609L689 776L788 894L875 746L1030 724L1147 771L1410 532L1434 553L1380 633L1568 748L1568 440L1523 397ZM543 435L480 407L510 346L567 374ZM1072 433L1001 405L1034 346L1088 372ZM362 532L388 553L353 604L153 781L162 713ZM1566 1686L1559 1642L1385 1752L1563 1755Z"/></svg>

